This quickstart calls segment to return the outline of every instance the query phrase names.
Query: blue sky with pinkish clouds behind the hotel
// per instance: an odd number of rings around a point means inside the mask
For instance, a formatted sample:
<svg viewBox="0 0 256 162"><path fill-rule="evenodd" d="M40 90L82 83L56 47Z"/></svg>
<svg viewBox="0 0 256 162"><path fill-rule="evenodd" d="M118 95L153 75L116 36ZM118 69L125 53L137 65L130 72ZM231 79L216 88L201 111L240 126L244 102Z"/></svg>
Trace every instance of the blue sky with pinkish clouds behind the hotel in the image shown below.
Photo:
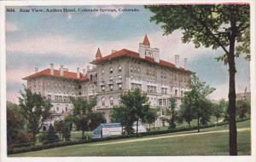
<svg viewBox="0 0 256 162"><path fill-rule="evenodd" d="M180 55L180 65L188 58L189 70L216 88L210 98L228 98L228 67L215 58L223 55L222 49L199 48L193 43L182 43L182 32L177 30L163 36L160 25L150 22L153 15L143 6L70 6L70 7L21 7L30 12L6 13L6 77L7 100L18 101L26 76L61 65L69 71L86 68L95 59L96 49L102 55L111 50L131 49L138 51L138 44L148 35L150 45L160 49L162 60L174 63L174 55ZM137 9L137 12L32 12L32 9ZM250 62L243 56L236 59L236 92L250 89Z"/></svg>

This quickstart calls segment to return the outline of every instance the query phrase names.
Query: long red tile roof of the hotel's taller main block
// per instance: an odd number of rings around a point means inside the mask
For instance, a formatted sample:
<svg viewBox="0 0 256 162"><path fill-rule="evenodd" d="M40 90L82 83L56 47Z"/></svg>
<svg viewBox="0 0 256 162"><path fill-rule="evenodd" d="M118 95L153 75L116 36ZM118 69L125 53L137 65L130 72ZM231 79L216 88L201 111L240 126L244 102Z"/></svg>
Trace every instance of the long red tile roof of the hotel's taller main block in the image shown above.
<svg viewBox="0 0 256 162"><path fill-rule="evenodd" d="M104 56L100 59L97 59L95 61L91 61L90 63L98 64L98 63L101 63L101 62L105 62L105 61L109 61L109 60L112 60L112 59L125 57L125 56L131 57L131 58L136 58L136 59L139 59L139 60L142 60L142 61L147 61L147 62L150 62L150 63L154 63L154 64L157 64L157 65L162 66L162 67L176 68L176 69L178 69L180 71L183 71L183 72L190 72L189 70L185 70L181 67L177 68L174 64L172 64L171 62L168 62L168 61L160 60L159 62L156 62L156 61L154 61L154 58L148 57L148 56L146 56L145 59L143 59L139 56L139 54L137 52L131 51L129 49L121 49L117 52L114 52L113 54L106 55L106 56Z"/></svg>

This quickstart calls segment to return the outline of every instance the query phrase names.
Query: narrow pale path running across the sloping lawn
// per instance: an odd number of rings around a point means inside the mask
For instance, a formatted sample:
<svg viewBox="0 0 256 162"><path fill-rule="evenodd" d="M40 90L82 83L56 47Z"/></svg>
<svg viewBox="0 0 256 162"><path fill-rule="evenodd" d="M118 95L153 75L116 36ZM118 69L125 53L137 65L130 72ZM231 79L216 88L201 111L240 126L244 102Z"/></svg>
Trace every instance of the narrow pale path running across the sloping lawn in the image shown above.
<svg viewBox="0 0 256 162"><path fill-rule="evenodd" d="M251 129L249 127L248 128L240 128L240 129L237 129L237 132L247 131L247 130L251 130ZM178 136L207 135L207 134L221 133L221 132L228 132L228 131L229 130L212 130L212 131L207 131L207 132L188 133L188 134L181 134L181 135L144 137L144 138L138 138L138 139L132 139L132 140L125 140L123 142L96 143L96 144L91 144L91 146L103 146L103 145L112 145L112 144L128 143L128 142L144 142L144 141L149 141L149 140L165 139L165 138L172 138L172 137L178 137Z"/></svg>

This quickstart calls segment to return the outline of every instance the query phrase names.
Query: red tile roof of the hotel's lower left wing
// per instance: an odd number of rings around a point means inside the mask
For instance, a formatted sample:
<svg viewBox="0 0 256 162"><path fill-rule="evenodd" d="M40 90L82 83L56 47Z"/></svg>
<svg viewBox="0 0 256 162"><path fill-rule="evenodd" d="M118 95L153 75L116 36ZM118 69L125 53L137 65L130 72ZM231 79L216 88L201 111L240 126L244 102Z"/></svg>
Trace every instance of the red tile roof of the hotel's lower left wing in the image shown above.
<svg viewBox="0 0 256 162"><path fill-rule="evenodd" d="M24 80L29 80L29 79L32 79L32 78L37 78L37 77L41 77L41 76L49 76L49 77L58 77L58 78L68 78L68 79L73 79L73 80L78 80L78 81L86 81L86 80L89 80L89 78L87 77L87 75L82 75L80 73L80 78L77 78L77 72L67 72L67 71L64 71L63 72L63 76L61 76L61 72L60 70L54 70L54 75L51 75L50 74L50 69L47 68L47 69L44 69L43 71L41 72L37 72L37 73L34 73L30 76L27 76L26 78L22 78Z"/></svg>

